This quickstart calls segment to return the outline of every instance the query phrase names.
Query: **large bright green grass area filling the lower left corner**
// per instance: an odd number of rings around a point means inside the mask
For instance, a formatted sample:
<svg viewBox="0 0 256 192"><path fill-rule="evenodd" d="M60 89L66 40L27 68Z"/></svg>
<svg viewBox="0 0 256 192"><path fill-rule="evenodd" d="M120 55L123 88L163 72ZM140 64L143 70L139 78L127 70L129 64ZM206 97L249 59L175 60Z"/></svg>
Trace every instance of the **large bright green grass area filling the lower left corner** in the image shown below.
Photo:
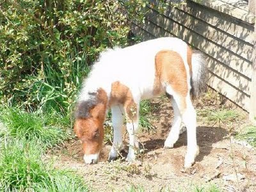
<svg viewBox="0 0 256 192"><path fill-rule="evenodd" d="M88 191L81 177L44 160L70 136L68 116L1 107L0 123L0 191Z"/></svg>

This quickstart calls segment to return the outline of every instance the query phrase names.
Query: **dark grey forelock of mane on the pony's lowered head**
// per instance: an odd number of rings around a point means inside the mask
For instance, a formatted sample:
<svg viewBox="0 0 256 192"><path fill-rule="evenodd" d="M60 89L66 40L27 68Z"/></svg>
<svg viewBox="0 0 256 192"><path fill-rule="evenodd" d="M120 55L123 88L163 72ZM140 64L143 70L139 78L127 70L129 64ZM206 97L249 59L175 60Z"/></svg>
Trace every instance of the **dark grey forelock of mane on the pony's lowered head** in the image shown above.
<svg viewBox="0 0 256 192"><path fill-rule="evenodd" d="M74 113L75 118L90 118L90 109L99 103L99 98L97 97L97 92L88 93L90 95L87 100L79 100L76 104L76 110Z"/></svg>

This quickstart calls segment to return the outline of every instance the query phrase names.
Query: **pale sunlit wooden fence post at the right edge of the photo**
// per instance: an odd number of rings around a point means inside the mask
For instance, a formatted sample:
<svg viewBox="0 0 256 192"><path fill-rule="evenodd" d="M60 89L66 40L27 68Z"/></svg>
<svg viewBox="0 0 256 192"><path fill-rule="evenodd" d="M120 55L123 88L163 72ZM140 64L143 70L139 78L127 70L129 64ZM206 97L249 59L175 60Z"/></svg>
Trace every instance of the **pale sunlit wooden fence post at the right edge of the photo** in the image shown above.
<svg viewBox="0 0 256 192"><path fill-rule="evenodd" d="M256 0L249 0L249 10L256 16ZM254 37L249 118L256 124L256 22L254 23Z"/></svg>

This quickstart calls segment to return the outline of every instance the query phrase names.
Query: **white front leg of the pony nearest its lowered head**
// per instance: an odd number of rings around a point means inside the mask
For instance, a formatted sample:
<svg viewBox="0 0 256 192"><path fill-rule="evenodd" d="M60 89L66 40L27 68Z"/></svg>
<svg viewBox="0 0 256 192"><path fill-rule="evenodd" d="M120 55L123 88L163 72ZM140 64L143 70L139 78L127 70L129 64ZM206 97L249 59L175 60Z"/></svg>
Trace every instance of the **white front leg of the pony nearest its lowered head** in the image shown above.
<svg viewBox="0 0 256 192"><path fill-rule="evenodd" d="M114 138L108 161L115 160L118 157L119 150L123 147L122 126L124 124L124 109L122 106L113 106L111 107L111 112Z"/></svg>

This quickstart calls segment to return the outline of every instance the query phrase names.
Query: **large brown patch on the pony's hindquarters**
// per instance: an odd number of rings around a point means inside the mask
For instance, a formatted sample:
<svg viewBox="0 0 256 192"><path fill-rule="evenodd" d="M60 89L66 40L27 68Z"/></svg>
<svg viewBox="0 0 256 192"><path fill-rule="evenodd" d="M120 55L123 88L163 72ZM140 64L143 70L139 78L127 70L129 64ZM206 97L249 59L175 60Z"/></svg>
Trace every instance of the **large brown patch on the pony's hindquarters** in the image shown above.
<svg viewBox="0 0 256 192"><path fill-rule="evenodd" d="M186 108L188 95L187 73L180 54L171 50L159 51L156 54L156 90L161 90L162 83L168 83L173 91L180 95L180 109Z"/></svg>

